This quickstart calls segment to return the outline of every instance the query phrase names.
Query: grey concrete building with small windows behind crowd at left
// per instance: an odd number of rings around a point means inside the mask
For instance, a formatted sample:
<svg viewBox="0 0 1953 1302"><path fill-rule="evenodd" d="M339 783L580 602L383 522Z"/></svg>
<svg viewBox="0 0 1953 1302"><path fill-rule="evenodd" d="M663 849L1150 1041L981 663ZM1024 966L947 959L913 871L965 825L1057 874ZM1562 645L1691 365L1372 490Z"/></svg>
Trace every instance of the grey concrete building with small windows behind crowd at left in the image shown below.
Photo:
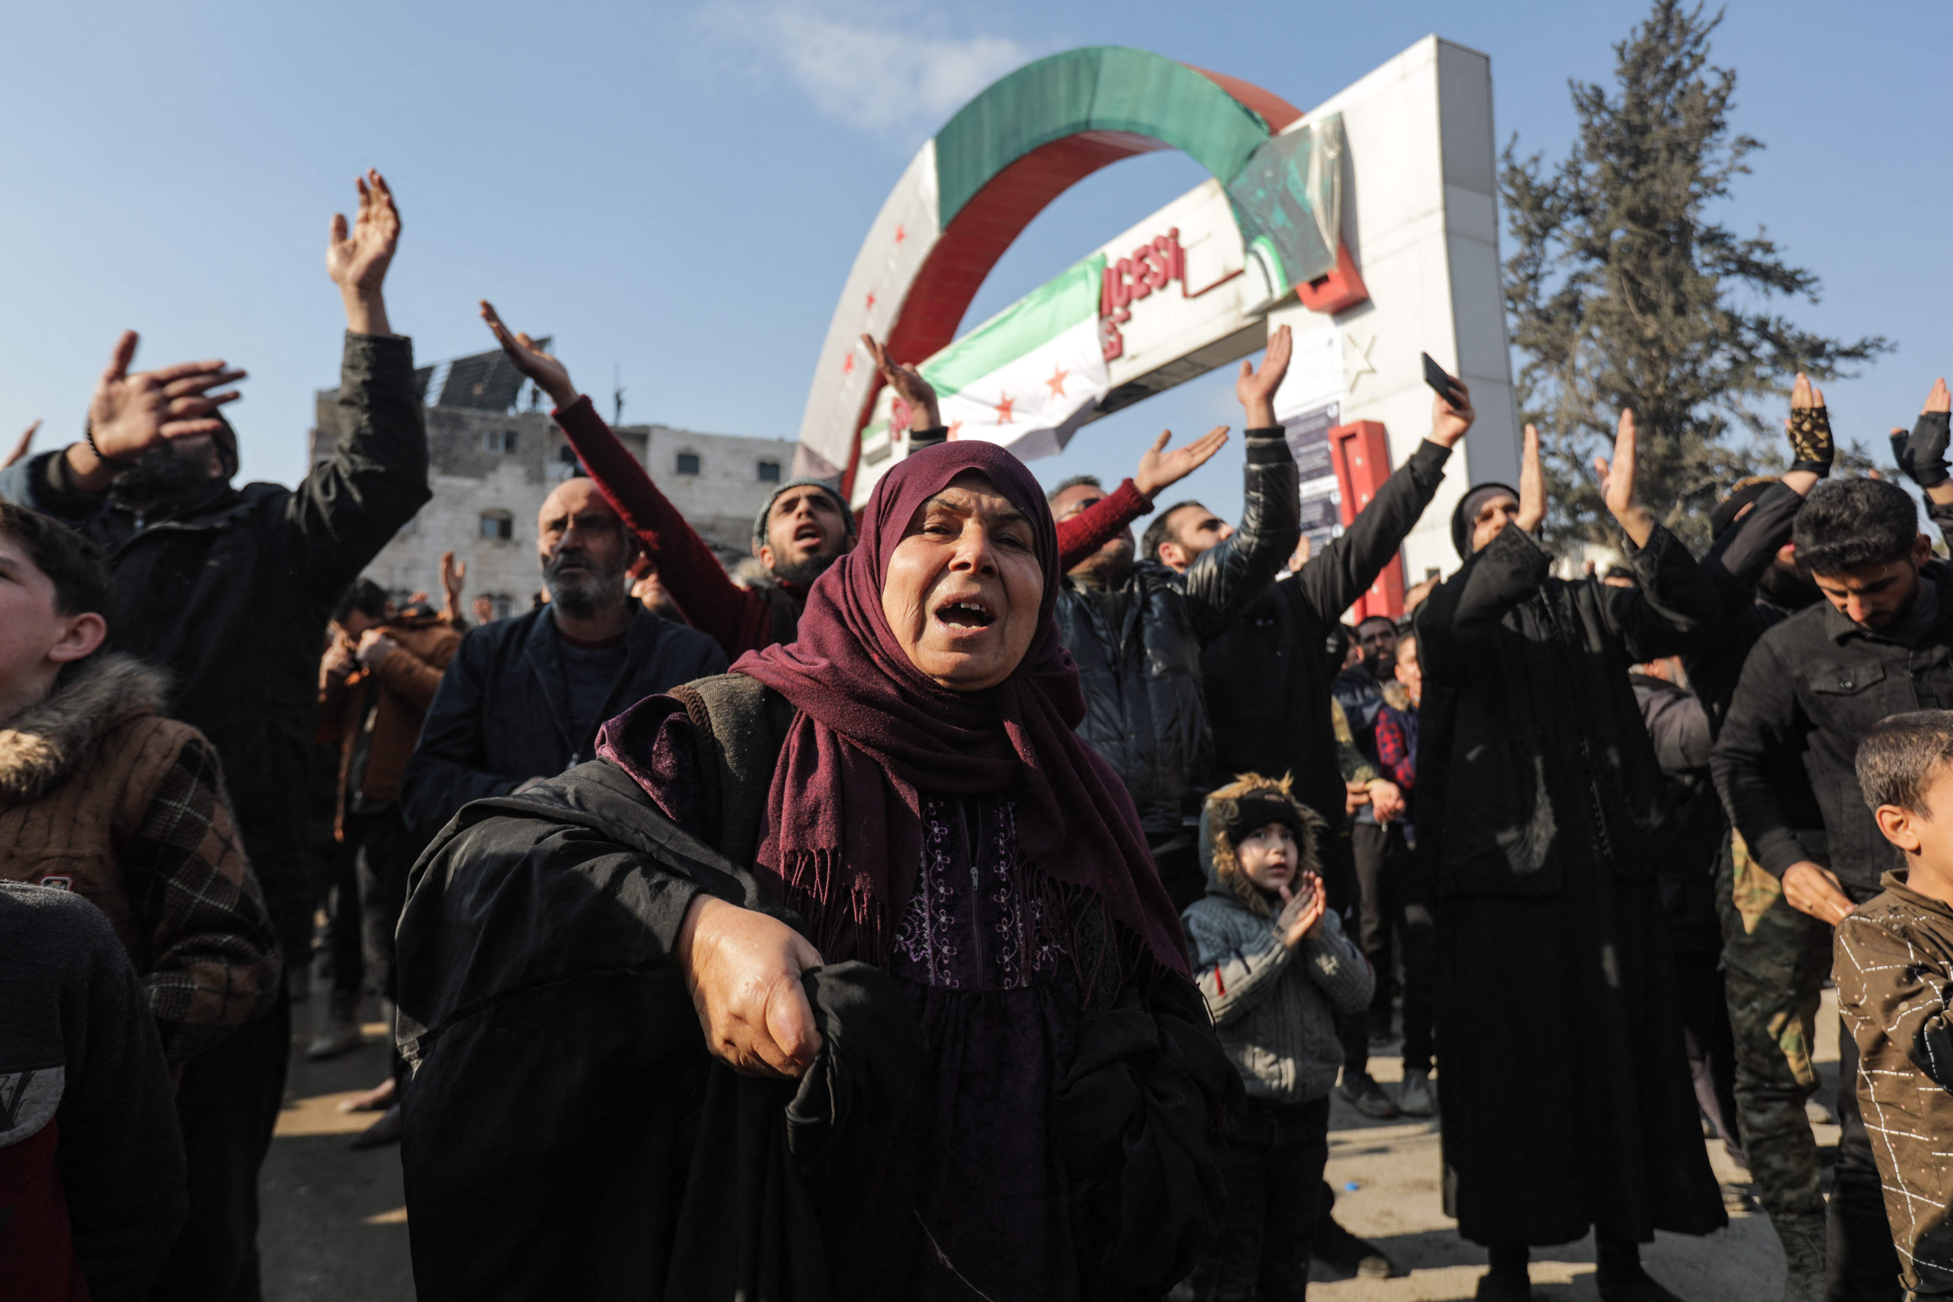
<svg viewBox="0 0 1953 1302"><path fill-rule="evenodd" d="M549 342L543 340L547 347ZM457 357L418 373L428 396L434 500L367 566L367 578L404 599L441 599L441 552L469 566L463 607L486 595L496 619L529 609L543 586L535 558L543 498L576 474L576 453L539 394L500 353ZM338 388L316 396L312 461L338 439ZM793 439L619 426L617 437L728 568L750 554L752 517L793 465Z"/></svg>

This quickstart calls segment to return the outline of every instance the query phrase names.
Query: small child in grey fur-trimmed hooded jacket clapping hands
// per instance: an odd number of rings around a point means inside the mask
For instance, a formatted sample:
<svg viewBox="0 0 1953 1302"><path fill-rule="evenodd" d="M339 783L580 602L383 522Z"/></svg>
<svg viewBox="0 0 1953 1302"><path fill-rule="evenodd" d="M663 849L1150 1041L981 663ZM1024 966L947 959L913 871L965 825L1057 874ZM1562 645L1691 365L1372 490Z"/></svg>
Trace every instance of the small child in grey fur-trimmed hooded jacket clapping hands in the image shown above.
<svg viewBox="0 0 1953 1302"><path fill-rule="evenodd" d="M1248 1087L1221 1165L1226 1226L1193 1275L1201 1302L1289 1302L1309 1290L1309 1247L1328 1160L1336 1015L1369 1005L1375 978L1326 908L1322 818L1279 783L1244 773L1207 796L1207 894L1182 921L1193 976Z"/></svg>

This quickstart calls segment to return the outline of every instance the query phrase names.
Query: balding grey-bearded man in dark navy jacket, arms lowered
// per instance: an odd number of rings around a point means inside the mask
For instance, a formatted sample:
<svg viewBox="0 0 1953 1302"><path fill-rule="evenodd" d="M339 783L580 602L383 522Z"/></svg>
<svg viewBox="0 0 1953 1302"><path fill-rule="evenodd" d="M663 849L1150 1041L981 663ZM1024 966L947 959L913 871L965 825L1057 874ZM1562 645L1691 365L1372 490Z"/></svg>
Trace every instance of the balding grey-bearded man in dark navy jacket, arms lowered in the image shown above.
<svg viewBox="0 0 1953 1302"><path fill-rule="evenodd" d="M725 673L719 644L631 599L637 541L588 478L537 513L549 601L473 629L441 677L400 798L439 828L469 800L527 791L596 755L598 726L644 697Z"/></svg>

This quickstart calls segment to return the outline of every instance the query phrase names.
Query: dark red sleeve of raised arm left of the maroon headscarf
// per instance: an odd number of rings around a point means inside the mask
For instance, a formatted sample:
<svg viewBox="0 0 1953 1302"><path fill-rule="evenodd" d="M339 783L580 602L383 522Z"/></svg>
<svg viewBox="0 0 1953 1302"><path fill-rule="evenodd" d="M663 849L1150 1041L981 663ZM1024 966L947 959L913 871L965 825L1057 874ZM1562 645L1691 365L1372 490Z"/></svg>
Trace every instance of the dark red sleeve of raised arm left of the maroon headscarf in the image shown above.
<svg viewBox="0 0 1953 1302"><path fill-rule="evenodd" d="M766 597L732 582L697 529L658 492L644 467L603 424L590 394L551 416L590 470L590 482L658 562L658 578L684 607L691 627L711 634L732 660L771 642L773 621Z"/></svg>

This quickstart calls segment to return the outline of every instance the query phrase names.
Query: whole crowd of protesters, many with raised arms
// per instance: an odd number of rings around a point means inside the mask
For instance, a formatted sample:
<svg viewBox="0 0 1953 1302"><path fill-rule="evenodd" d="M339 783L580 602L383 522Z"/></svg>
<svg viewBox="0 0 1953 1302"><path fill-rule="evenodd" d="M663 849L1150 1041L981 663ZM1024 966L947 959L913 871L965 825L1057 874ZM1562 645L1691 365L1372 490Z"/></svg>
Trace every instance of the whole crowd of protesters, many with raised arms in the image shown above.
<svg viewBox="0 0 1953 1302"><path fill-rule="evenodd" d="M451 554L441 609L363 576L430 488L400 217L357 189L305 484L234 486L244 373L135 334L84 437L0 470L8 1296L260 1296L314 970L311 1058L389 1009L348 1105L430 1300L1301 1298L1394 1269L1334 1218L1338 1093L1441 1119L1480 1298L1590 1232L1603 1298L1672 1298L1641 1247L1726 1224L1705 1132L1785 1298L1953 1292L1953 566L1898 482L1832 478L1805 377L1701 556L1621 412L1621 560L1562 564L1527 427L1457 570L1346 623L1465 385L1310 549L1287 328L1236 381L1238 525L1160 504L1226 427L1045 492L863 340L906 457L859 513L779 484L732 576L482 303L582 472L535 607L469 621ZM1941 529L1949 410L1892 433Z"/></svg>

